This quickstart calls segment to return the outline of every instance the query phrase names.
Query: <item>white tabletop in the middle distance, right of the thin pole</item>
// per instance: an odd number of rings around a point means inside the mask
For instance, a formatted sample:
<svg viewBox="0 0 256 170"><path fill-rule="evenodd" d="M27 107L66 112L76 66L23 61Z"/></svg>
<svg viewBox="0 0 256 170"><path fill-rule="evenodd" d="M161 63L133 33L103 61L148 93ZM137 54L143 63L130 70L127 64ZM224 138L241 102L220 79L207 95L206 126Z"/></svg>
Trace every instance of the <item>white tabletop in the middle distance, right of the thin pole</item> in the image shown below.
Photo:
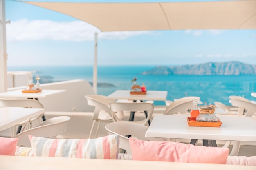
<svg viewBox="0 0 256 170"><path fill-rule="evenodd" d="M130 90L117 90L106 97L106 99L127 99L127 100L156 100L165 101L167 91L147 91L145 95L131 95Z"/></svg>

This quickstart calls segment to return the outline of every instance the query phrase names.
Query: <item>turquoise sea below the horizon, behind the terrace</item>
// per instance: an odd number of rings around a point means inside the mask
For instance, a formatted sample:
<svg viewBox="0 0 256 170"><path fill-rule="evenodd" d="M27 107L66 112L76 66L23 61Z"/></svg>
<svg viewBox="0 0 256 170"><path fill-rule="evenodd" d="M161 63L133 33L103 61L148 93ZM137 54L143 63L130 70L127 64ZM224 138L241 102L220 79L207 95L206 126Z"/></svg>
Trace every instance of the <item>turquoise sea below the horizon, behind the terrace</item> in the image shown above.
<svg viewBox="0 0 256 170"><path fill-rule="evenodd" d="M168 91L167 100L187 96L199 96L202 102L213 104L219 101L229 104L229 95L244 96L256 100L256 75L141 75L155 66L98 66L97 93L109 95L117 89L129 90L131 80L137 77L137 84L144 83L147 90ZM41 77L40 83L71 79L85 79L92 82L93 66L8 66L8 71L34 71L33 76ZM156 105L164 102L155 101Z"/></svg>

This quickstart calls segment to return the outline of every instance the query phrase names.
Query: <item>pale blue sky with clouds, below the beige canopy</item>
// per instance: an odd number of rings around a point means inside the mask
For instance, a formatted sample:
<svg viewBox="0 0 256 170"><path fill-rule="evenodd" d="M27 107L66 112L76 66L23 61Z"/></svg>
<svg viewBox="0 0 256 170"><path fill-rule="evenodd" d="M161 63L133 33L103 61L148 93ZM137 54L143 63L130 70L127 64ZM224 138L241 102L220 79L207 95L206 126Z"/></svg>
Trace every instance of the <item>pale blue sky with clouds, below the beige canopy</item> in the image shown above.
<svg viewBox="0 0 256 170"><path fill-rule="evenodd" d="M7 24L7 66L93 65L94 32L99 31L97 28L30 4L11 0L6 0L5 4L6 19L11 21ZM256 64L256 30L99 33L98 65L184 65L231 60Z"/></svg>

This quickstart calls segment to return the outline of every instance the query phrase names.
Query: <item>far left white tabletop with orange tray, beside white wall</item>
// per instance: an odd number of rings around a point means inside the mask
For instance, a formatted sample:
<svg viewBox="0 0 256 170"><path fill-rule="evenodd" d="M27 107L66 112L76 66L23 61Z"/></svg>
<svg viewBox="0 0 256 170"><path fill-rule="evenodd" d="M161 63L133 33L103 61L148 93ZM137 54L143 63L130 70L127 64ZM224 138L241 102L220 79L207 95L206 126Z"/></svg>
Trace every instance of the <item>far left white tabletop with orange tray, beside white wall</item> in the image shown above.
<svg viewBox="0 0 256 170"><path fill-rule="evenodd" d="M57 95L64 93L66 90L47 90L43 89L41 92L38 93L23 93L21 89L13 90L13 91L6 91L0 93L0 98L46 98L52 95Z"/></svg>

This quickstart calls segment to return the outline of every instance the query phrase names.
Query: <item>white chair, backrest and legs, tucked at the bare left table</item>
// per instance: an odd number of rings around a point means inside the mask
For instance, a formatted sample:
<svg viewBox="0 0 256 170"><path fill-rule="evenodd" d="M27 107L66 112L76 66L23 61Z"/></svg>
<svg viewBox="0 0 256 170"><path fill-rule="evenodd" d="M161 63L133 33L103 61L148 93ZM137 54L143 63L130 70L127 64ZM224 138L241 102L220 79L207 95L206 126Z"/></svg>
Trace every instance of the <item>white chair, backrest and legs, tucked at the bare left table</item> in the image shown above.
<svg viewBox="0 0 256 170"><path fill-rule="evenodd" d="M44 108L43 104L33 99L0 99L0 107ZM23 121L17 124L17 126L19 126L17 133L31 128L32 126L31 124L35 120L38 120L39 123L41 123L43 121L42 119L43 115L44 114L38 115L27 121ZM16 129L14 128L14 130L12 130L11 128L11 136L16 135L16 134L13 134L14 132L16 133Z"/></svg>

